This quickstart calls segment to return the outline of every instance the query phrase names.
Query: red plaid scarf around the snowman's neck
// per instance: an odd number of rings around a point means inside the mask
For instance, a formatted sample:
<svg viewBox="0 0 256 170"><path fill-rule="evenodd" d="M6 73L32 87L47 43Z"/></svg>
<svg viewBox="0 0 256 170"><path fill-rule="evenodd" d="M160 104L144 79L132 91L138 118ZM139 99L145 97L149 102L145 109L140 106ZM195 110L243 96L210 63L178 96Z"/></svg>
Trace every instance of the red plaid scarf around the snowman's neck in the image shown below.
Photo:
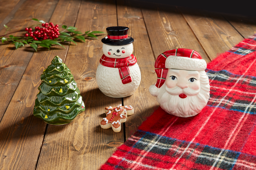
<svg viewBox="0 0 256 170"><path fill-rule="evenodd" d="M130 70L128 66L132 66L137 63L137 59L134 55L126 58L109 58L106 55L102 55L100 64L106 67L118 68L120 78L123 84L132 82Z"/></svg>

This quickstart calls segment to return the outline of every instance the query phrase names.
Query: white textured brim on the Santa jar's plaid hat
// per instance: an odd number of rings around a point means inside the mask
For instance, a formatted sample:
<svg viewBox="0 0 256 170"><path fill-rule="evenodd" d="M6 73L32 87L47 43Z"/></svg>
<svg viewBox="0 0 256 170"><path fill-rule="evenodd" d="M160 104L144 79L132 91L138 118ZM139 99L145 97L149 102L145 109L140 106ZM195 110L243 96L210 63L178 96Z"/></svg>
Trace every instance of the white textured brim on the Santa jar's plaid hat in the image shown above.
<svg viewBox="0 0 256 170"><path fill-rule="evenodd" d="M169 56L165 61L165 67L168 69L202 71L206 69L206 66L204 59L181 56Z"/></svg>

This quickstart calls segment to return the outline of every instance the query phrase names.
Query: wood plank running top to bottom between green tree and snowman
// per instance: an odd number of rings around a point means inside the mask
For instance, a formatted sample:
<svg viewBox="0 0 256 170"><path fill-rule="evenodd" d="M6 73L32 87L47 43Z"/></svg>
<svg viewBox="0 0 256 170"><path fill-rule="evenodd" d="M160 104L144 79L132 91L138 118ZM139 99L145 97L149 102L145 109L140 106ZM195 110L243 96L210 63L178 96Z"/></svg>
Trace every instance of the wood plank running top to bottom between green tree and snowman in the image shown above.
<svg viewBox="0 0 256 170"><path fill-rule="evenodd" d="M106 32L106 27L116 25L115 0L82 1L75 25L79 30ZM37 169L99 169L116 146L124 143L123 127L119 133L100 128L104 108L122 103L121 99L105 96L96 84L104 36L69 47L65 63L81 91L85 112L70 124L48 126Z"/></svg>

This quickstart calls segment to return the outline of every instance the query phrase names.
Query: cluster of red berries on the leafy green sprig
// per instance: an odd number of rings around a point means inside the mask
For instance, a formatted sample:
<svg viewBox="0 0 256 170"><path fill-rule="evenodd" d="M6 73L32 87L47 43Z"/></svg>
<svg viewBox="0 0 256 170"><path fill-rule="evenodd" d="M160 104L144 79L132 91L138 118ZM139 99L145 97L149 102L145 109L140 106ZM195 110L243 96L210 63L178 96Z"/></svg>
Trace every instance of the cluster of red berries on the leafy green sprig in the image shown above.
<svg viewBox="0 0 256 170"><path fill-rule="evenodd" d="M49 26L50 25L50 26ZM58 38L59 33L59 25L53 25L52 22L44 23L42 24L43 27L45 28L39 28L39 26L35 27L35 32L32 32L32 28L25 28L25 31L27 33L25 34L25 37L32 37L34 40L38 40L38 38L46 40L46 39L54 39Z"/></svg>

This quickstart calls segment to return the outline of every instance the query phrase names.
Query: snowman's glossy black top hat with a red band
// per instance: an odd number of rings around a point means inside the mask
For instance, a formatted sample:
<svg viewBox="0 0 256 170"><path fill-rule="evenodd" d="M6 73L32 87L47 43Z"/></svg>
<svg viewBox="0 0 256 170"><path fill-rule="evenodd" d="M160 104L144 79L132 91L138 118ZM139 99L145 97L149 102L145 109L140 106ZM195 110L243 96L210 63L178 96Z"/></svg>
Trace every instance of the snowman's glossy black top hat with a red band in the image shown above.
<svg viewBox="0 0 256 170"><path fill-rule="evenodd" d="M108 45L126 45L132 43L132 37L128 37L129 28L126 26L110 26L106 28L108 36L101 39L101 42Z"/></svg>

